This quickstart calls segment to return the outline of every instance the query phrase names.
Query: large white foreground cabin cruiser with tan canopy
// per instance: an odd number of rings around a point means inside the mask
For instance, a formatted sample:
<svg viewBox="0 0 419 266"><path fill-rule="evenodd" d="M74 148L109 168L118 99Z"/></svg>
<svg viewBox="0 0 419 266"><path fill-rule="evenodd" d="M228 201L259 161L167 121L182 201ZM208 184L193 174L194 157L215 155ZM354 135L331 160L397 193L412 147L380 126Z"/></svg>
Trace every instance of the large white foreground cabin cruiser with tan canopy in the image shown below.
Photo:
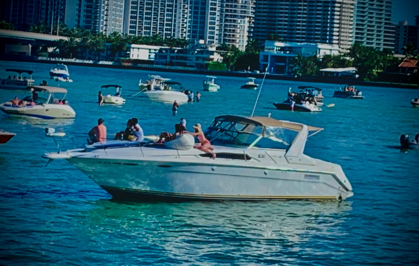
<svg viewBox="0 0 419 266"><path fill-rule="evenodd" d="M174 147L107 141L43 157L66 159L115 198L344 200L353 193L341 166L303 153L307 138L321 130L269 117L221 115L205 131L216 159L182 146L187 139Z"/></svg>

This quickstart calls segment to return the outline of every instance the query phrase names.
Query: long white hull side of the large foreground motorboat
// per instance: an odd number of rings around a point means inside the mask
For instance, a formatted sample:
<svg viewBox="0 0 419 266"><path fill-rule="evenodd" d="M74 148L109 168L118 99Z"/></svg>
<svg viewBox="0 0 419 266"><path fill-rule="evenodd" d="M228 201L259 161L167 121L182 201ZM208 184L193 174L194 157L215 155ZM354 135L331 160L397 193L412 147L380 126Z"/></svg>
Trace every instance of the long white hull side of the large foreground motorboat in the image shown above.
<svg viewBox="0 0 419 266"><path fill-rule="evenodd" d="M114 197L336 200L352 196L352 192L338 189L341 186L331 174L167 161L67 160Z"/></svg>

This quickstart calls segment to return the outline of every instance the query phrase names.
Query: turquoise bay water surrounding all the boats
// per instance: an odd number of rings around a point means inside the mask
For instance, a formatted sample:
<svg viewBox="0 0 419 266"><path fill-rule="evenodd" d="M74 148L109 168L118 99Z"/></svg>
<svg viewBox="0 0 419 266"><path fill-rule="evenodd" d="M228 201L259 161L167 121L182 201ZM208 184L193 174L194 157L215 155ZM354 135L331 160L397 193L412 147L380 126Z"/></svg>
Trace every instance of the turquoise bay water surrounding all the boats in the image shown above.
<svg viewBox="0 0 419 266"><path fill-rule="evenodd" d="M30 68L37 83L49 64L0 62ZM418 90L361 87L365 100L332 98L339 84L324 89L321 113L274 109L289 87L308 83L266 80L256 115L325 128L311 137L305 153L340 164L354 189L344 202L115 202L66 161L40 156L56 146L45 127L72 133L78 144L97 118L108 133L138 117L146 134L171 130L181 117L187 128L208 125L216 115L250 115L257 91L239 90L244 78L219 77L218 93L202 92L199 103L171 106L130 97L138 80L160 74L202 90L204 76L69 66L73 83L61 83L77 115L74 120L8 118L0 128L18 135L0 147L0 264L63 265L417 265L419 263L419 150L400 151L401 133L419 132ZM259 84L261 79L256 80ZM120 84L124 106L98 106L102 84ZM0 102L21 92L0 91ZM21 199L28 187L32 186Z"/></svg>

